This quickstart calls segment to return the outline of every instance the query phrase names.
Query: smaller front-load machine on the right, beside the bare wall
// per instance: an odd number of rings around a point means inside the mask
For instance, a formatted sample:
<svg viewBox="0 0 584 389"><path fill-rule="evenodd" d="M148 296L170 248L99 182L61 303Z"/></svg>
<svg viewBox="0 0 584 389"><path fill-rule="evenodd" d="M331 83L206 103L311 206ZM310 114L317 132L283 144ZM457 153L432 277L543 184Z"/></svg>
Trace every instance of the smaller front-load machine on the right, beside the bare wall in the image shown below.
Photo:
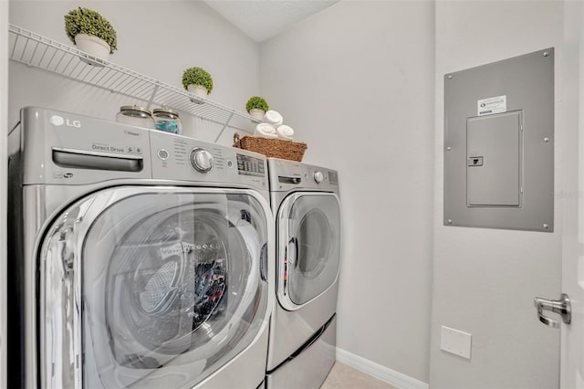
<svg viewBox="0 0 584 389"><path fill-rule="evenodd" d="M276 226L276 302L266 387L318 388L336 357L338 173L268 159Z"/></svg>

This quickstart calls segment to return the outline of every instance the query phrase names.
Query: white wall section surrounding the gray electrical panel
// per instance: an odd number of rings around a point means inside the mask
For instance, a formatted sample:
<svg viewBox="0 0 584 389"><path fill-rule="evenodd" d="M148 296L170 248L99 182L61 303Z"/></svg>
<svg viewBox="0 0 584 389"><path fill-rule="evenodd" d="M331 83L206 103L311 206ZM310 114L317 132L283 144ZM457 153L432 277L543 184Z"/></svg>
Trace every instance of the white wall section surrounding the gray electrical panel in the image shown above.
<svg viewBox="0 0 584 389"><path fill-rule="evenodd" d="M556 47L556 193L563 183L563 5L436 4L433 388L557 387L558 336L537 321L536 295L559 297L562 205L552 234L443 226L443 75ZM440 327L473 334L472 360L440 351Z"/></svg>

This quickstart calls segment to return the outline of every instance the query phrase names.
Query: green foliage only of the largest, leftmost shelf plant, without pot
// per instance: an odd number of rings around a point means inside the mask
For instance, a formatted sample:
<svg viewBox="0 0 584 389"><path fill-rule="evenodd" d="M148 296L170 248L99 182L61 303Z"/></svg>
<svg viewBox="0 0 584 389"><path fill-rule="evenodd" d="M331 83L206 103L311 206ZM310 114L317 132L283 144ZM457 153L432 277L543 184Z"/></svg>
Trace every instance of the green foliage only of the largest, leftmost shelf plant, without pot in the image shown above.
<svg viewBox="0 0 584 389"><path fill-rule="evenodd" d="M88 34L105 40L110 45L110 54L118 49L116 30L105 17L89 8L79 6L70 10L65 16L65 32L73 43L76 35Z"/></svg>

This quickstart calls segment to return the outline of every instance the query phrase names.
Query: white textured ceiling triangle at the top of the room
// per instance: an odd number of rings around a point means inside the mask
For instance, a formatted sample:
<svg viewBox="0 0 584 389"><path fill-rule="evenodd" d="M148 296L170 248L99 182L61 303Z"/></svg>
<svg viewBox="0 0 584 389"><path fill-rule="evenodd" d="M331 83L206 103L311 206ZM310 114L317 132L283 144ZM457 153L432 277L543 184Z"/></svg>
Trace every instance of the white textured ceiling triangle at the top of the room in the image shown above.
<svg viewBox="0 0 584 389"><path fill-rule="evenodd" d="M262 42L339 0L204 0L248 37Z"/></svg>

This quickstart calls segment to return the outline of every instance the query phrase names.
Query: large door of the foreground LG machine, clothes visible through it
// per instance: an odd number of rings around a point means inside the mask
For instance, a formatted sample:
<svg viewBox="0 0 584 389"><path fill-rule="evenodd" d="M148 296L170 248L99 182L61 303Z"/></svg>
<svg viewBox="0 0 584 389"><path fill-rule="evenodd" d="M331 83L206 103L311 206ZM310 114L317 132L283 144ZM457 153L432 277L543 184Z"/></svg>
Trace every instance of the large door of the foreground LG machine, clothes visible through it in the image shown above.
<svg viewBox="0 0 584 389"><path fill-rule="evenodd" d="M84 387L192 387L266 321L266 214L254 195L111 189L57 226L49 252L83 237Z"/></svg>

